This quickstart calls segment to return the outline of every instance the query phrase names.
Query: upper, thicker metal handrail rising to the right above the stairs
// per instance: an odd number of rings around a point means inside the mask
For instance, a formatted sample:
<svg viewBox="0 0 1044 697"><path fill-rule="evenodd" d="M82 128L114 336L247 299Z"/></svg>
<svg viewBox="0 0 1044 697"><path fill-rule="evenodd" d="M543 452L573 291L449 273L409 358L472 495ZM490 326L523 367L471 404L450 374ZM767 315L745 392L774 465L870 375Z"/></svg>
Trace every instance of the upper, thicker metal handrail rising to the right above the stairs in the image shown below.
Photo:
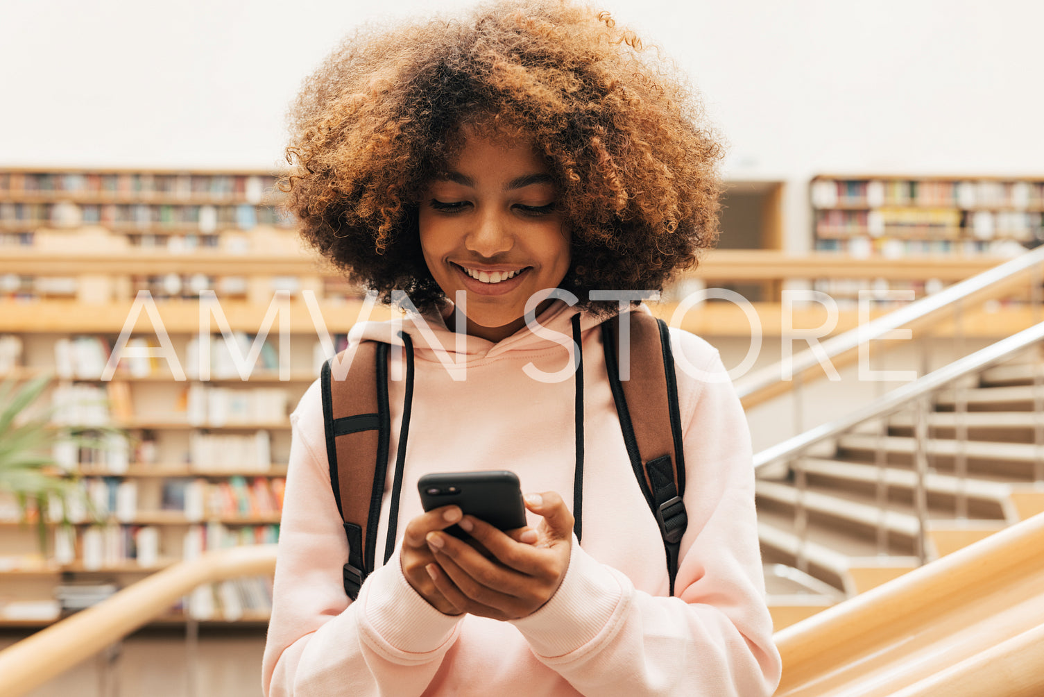
<svg viewBox="0 0 1044 697"><path fill-rule="evenodd" d="M881 339L888 332L902 327L928 323L936 316L962 301L967 301L990 291L1006 292L1009 287L1022 282L1021 276L1044 263L1044 246L989 269L958 283L954 283L939 293L926 296L920 300L883 315L862 326L837 334L820 342L817 350L808 348L790 358L792 366L789 374L796 376L813 374L809 371L820 365L822 358L835 359L858 349L861 344ZM822 373L822 371L820 371ZM780 364L774 364L752 372L736 381L736 392L744 406L758 403L755 396L759 393L787 384L780 379Z"/></svg>

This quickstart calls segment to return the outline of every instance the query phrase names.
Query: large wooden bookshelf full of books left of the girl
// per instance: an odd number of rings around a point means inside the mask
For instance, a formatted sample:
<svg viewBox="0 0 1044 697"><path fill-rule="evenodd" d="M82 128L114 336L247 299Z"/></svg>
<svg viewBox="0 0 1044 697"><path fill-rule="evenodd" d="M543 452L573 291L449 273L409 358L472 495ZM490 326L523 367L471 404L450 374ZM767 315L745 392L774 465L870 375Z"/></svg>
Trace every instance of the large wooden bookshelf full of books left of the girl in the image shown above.
<svg viewBox="0 0 1044 697"><path fill-rule="evenodd" d="M286 417L317 374L301 292L333 318L352 289L303 262L275 181L261 171L0 171L0 379L53 374L55 422L118 429L103 447L54 444L79 503L51 501L20 521L15 502L0 499L0 627L44 626L180 559L278 538ZM123 358L102 379L142 291L188 379L149 357ZM232 332L226 343L215 323L208 380L192 365L204 291ZM233 353L246 355L278 292L295 296L280 347L290 371L280 370L274 327L242 379ZM157 335L143 312L126 346L155 347ZM164 622L266 622L266 583L201 588Z"/></svg>

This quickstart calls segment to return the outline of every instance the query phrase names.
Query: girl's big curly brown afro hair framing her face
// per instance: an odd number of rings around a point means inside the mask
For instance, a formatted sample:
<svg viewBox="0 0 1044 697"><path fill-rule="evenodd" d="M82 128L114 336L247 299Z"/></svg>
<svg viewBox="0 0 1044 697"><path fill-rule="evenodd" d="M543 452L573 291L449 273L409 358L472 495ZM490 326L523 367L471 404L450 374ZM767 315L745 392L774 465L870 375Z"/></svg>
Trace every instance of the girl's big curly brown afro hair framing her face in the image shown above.
<svg viewBox="0 0 1044 697"><path fill-rule="evenodd" d="M652 51L656 53L657 51ZM459 19L369 27L304 82L281 186L307 242L384 302L444 301L421 253L421 192L464 123L529 139L572 231L562 287L660 291L717 238L722 146L694 90L608 13L495 2Z"/></svg>

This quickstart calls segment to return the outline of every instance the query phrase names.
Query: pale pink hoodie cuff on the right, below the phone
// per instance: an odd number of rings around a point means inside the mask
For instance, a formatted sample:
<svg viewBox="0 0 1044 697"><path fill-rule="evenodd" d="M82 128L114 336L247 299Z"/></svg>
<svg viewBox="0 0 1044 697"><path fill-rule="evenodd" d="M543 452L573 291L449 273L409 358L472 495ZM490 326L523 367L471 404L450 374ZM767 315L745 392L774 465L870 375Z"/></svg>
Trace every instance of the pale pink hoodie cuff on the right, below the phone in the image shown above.
<svg viewBox="0 0 1044 697"><path fill-rule="evenodd" d="M602 632L626 595L617 575L580 549L574 535L569 567L559 589L539 610L512 624L538 656L562 656Z"/></svg>

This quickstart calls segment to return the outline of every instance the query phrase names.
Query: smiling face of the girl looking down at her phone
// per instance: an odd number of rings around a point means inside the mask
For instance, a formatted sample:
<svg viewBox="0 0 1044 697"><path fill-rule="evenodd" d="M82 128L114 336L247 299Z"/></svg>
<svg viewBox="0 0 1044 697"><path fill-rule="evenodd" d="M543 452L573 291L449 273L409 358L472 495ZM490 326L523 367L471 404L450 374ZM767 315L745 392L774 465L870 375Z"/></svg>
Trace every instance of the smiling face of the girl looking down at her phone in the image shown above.
<svg viewBox="0 0 1044 697"><path fill-rule="evenodd" d="M562 282L569 230L531 143L489 140L467 126L462 135L459 156L424 190L421 249L447 298L467 293L468 333L498 342L525 326L531 296Z"/></svg>

